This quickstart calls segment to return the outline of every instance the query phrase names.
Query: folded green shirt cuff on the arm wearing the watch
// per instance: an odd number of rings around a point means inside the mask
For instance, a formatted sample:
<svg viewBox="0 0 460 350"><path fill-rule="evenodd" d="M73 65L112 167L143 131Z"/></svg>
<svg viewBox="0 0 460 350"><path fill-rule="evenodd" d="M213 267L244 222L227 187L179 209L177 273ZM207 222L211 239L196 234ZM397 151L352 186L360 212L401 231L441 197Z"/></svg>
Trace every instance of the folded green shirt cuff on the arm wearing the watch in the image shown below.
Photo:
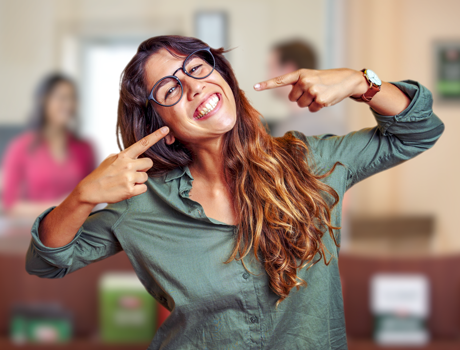
<svg viewBox="0 0 460 350"><path fill-rule="evenodd" d="M431 92L425 86L414 80L396 81L391 82L391 84L406 93L412 101L398 115L380 115L372 108L370 109L383 135L387 134L388 129L394 123L423 120L429 118L432 113L433 98Z"/></svg>

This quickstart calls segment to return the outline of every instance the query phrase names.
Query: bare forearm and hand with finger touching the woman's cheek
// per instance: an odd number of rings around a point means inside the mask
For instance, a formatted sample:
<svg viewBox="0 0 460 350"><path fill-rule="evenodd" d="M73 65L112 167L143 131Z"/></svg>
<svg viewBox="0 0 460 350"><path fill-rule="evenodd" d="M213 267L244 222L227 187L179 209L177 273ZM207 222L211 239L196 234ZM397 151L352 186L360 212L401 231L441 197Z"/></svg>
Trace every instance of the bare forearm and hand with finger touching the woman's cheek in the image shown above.
<svg viewBox="0 0 460 350"><path fill-rule="evenodd" d="M40 241L46 247L63 247L74 239L96 204L116 203L144 193L147 190L146 171L153 162L150 158L138 157L168 132L163 126L120 153L107 157L40 221Z"/></svg>

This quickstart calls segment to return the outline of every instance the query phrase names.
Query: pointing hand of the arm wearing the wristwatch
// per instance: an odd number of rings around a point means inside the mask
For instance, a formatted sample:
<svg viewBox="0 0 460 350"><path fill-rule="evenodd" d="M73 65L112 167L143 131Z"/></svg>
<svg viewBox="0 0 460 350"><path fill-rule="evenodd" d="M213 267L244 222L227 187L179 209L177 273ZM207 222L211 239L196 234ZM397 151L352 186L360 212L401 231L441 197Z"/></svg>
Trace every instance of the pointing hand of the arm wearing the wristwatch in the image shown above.
<svg viewBox="0 0 460 350"><path fill-rule="evenodd" d="M338 68L298 69L255 84L254 89L262 91L286 85L292 85L289 100L297 102L299 107L308 107L311 112L332 106L349 96L361 96L369 88L362 72Z"/></svg>

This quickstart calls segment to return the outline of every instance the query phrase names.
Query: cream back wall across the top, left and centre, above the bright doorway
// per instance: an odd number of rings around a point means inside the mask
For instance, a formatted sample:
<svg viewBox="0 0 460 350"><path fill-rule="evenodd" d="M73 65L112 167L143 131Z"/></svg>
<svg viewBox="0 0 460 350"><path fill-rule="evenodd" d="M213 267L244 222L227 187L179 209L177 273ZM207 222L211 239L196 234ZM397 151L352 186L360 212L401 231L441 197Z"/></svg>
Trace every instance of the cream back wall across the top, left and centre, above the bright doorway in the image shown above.
<svg viewBox="0 0 460 350"><path fill-rule="evenodd" d="M0 0L0 123L24 123L40 77L78 64L65 57L69 38L194 35L202 10L227 11L229 59L243 90L267 118L286 115L283 103L252 86L266 78L266 56L278 40L305 38L324 56L326 7L314 0Z"/></svg>

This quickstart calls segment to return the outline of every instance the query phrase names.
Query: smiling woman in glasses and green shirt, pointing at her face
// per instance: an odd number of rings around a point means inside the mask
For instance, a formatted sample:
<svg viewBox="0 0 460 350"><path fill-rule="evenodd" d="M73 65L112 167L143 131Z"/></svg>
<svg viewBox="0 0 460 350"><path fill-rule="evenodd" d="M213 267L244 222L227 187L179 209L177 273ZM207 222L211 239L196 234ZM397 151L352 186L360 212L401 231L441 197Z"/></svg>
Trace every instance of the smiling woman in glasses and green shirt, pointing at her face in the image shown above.
<svg viewBox="0 0 460 350"><path fill-rule="evenodd" d="M311 111L353 97L378 125L272 138L223 53L181 36L139 46L121 79L125 149L37 218L27 270L62 277L124 250L171 310L149 349L346 349L343 195L436 142L431 93L300 69L254 88L291 85ZM99 202L112 204L90 215Z"/></svg>

